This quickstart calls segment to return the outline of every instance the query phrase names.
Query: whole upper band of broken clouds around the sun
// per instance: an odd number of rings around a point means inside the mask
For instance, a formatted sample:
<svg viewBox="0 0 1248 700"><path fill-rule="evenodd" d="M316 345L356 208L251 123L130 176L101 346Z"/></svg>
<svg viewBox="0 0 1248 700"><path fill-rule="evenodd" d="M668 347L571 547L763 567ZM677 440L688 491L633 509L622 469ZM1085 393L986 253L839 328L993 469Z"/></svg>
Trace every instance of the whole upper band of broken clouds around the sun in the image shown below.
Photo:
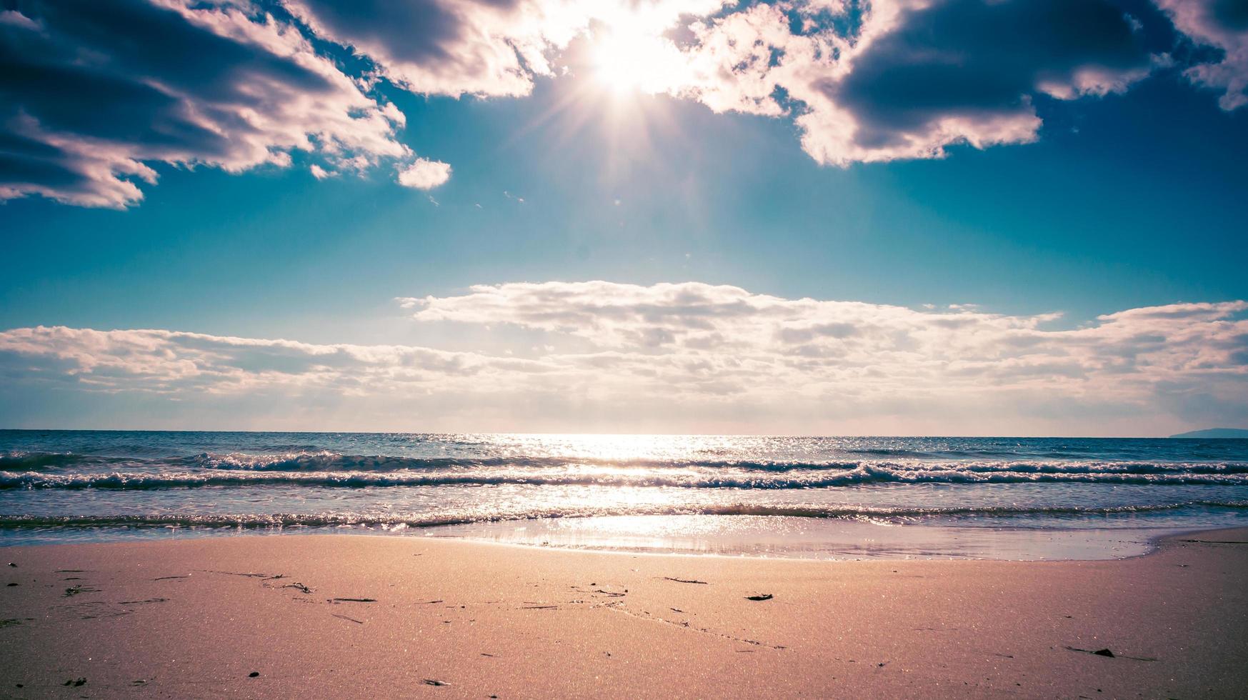
<svg viewBox="0 0 1248 700"><path fill-rule="evenodd" d="M1243 0L1154 1L1164 15L1113 0L20 0L0 10L0 200L120 208L158 163L242 172L296 151L318 178L414 161L401 182L434 182L378 81L523 96L592 70L575 54L595 46L644 54L615 66L643 89L792 120L837 166L1036 141L1037 102L1128 90L1169 65L1148 37L1173 31L1208 47L1181 66L1192 82L1248 104Z"/></svg>

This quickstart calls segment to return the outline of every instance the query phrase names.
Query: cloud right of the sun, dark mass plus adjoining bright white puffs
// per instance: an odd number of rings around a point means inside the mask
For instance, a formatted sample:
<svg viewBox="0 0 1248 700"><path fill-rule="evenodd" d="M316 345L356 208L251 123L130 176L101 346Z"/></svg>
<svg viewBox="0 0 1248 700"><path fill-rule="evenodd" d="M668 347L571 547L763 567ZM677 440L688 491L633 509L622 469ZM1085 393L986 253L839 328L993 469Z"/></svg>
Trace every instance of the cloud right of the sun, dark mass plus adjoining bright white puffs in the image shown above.
<svg viewBox="0 0 1248 700"><path fill-rule="evenodd" d="M1157 59L1106 0L877 0L778 5L694 27L700 80L679 90L716 111L792 114L821 163L940 157L1038 136L1035 100L1121 92Z"/></svg>

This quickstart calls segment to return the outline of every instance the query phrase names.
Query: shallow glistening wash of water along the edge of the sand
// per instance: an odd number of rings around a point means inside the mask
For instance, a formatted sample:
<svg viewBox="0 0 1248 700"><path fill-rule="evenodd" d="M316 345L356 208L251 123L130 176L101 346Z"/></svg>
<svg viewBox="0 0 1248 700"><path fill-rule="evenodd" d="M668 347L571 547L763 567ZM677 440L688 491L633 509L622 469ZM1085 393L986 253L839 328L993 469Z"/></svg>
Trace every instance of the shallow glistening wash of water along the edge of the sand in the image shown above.
<svg viewBox="0 0 1248 700"><path fill-rule="evenodd" d="M746 525L741 525L743 522ZM689 537L689 530L696 529L691 525L698 524L704 532L700 537ZM119 527L107 534L100 534L101 530L84 534L70 529L71 537L61 540L57 538L65 538L66 530L54 527L47 528L50 534L46 540L41 540L37 534L24 538L21 534L24 528L15 528L9 533L0 532L0 552L5 548L29 547L331 535L441 539L555 552L764 560L1098 561L1146 557L1156 552L1166 538L1236 527L1238 525L1202 523L1043 528L1001 524L894 524L774 515L638 515L532 518L393 529L353 525L134 529ZM643 537L648 532L649 537ZM589 533L589 537L584 537L584 533ZM80 535L81 539L74 539L74 535Z"/></svg>

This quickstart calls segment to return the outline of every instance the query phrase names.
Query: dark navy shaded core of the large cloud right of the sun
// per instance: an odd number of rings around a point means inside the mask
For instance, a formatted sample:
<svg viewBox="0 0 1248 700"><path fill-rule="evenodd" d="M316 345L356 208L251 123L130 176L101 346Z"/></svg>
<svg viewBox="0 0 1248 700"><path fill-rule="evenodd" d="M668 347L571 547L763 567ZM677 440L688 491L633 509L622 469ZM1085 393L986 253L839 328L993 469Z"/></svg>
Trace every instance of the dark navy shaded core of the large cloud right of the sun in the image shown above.
<svg viewBox="0 0 1248 700"><path fill-rule="evenodd" d="M1128 17L1101 0L952 0L900 22L824 87L855 115L864 147L950 117L1031 114L1032 95L1106 91L1149 66Z"/></svg>

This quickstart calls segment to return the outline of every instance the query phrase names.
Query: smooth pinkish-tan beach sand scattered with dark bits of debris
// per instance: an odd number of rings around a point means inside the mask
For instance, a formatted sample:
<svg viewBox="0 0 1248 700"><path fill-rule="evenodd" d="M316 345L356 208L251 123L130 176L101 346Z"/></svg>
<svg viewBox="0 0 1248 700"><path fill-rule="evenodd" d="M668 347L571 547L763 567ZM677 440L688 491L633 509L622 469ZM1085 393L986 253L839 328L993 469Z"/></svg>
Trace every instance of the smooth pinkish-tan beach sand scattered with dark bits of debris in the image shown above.
<svg viewBox="0 0 1248 700"><path fill-rule="evenodd" d="M1052 563L359 535L6 548L0 696L1234 698L1246 573L1248 530Z"/></svg>

